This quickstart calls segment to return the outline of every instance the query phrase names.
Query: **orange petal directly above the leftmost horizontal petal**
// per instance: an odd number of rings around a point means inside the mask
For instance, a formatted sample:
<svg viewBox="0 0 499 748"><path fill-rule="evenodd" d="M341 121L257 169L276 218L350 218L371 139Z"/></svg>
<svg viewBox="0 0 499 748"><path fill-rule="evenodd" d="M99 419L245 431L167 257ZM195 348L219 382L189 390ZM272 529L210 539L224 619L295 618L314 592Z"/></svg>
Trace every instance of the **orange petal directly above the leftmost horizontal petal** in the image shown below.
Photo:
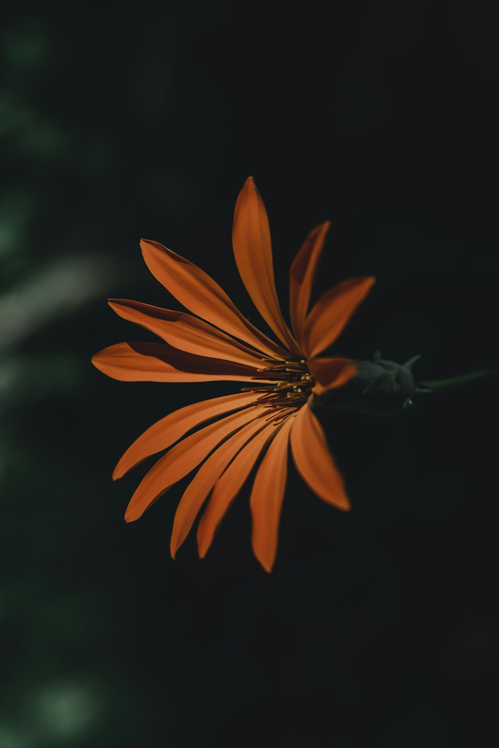
<svg viewBox="0 0 499 748"><path fill-rule="evenodd" d="M236 361L250 367L262 365L257 352L190 314L124 298L109 299L108 304L123 319L141 325L181 351Z"/></svg>

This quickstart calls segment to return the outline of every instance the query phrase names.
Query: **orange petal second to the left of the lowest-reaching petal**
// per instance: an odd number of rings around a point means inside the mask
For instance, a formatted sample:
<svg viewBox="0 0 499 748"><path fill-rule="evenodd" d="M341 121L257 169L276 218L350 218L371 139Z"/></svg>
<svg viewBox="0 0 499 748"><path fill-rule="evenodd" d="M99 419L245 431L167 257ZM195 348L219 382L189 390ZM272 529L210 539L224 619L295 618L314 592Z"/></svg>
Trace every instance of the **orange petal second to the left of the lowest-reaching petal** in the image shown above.
<svg viewBox="0 0 499 748"><path fill-rule="evenodd" d="M175 558L180 546L189 534L192 523L198 516L209 491L212 490L215 480L227 468L230 460L245 445L255 432L263 428L261 418L257 416L265 411L265 408L251 408L254 421L239 429L230 439L224 441L218 450L209 456L206 462L199 468L192 481L184 491L174 519L174 528L171 533L170 551L171 557Z"/></svg>

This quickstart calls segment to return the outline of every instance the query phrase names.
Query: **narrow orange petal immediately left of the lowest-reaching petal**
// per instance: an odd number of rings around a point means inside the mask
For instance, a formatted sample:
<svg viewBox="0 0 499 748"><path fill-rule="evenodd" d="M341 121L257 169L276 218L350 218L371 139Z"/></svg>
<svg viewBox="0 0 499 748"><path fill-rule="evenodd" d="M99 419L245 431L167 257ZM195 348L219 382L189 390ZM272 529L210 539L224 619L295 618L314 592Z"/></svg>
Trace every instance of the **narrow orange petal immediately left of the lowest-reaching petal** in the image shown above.
<svg viewBox="0 0 499 748"><path fill-rule="evenodd" d="M209 497L209 502L198 525L198 553L200 558L206 556L225 512L241 490L267 441L275 434L275 429L275 423L269 423L251 441L248 441L248 444L236 455L227 470L221 474L215 483L212 495Z"/></svg>

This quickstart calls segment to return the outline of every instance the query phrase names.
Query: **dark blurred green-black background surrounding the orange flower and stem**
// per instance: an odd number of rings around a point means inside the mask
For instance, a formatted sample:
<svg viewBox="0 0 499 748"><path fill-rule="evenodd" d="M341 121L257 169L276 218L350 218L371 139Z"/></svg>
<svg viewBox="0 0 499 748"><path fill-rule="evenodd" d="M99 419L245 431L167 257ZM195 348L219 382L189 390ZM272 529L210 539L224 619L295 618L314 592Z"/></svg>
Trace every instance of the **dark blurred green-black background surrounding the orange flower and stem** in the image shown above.
<svg viewBox="0 0 499 748"><path fill-rule="evenodd" d="M421 378L497 364L498 5L327 10L2 10L2 748L491 744L495 383L398 422L322 414L353 509L290 468L271 575L248 490L205 560L189 537L173 562L186 480L131 525L147 466L111 482L147 426L238 386L105 378L94 352L151 339L105 300L179 307L141 260L146 236L259 326L230 242L248 174L284 309L325 218L316 295L378 278L336 352L420 353Z"/></svg>

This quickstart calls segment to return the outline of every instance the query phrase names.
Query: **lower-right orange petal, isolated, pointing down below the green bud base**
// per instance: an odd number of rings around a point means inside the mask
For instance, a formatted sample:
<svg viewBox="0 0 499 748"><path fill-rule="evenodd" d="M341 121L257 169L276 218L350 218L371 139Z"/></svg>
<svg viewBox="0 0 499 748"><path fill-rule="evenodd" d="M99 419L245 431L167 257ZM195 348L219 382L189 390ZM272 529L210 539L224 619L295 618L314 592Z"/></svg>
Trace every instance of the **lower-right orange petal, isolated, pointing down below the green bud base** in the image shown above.
<svg viewBox="0 0 499 748"><path fill-rule="evenodd" d="M293 419L291 453L307 486L319 498L338 509L350 509L340 471L329 451L325 433L308 405Z"/></svg>

